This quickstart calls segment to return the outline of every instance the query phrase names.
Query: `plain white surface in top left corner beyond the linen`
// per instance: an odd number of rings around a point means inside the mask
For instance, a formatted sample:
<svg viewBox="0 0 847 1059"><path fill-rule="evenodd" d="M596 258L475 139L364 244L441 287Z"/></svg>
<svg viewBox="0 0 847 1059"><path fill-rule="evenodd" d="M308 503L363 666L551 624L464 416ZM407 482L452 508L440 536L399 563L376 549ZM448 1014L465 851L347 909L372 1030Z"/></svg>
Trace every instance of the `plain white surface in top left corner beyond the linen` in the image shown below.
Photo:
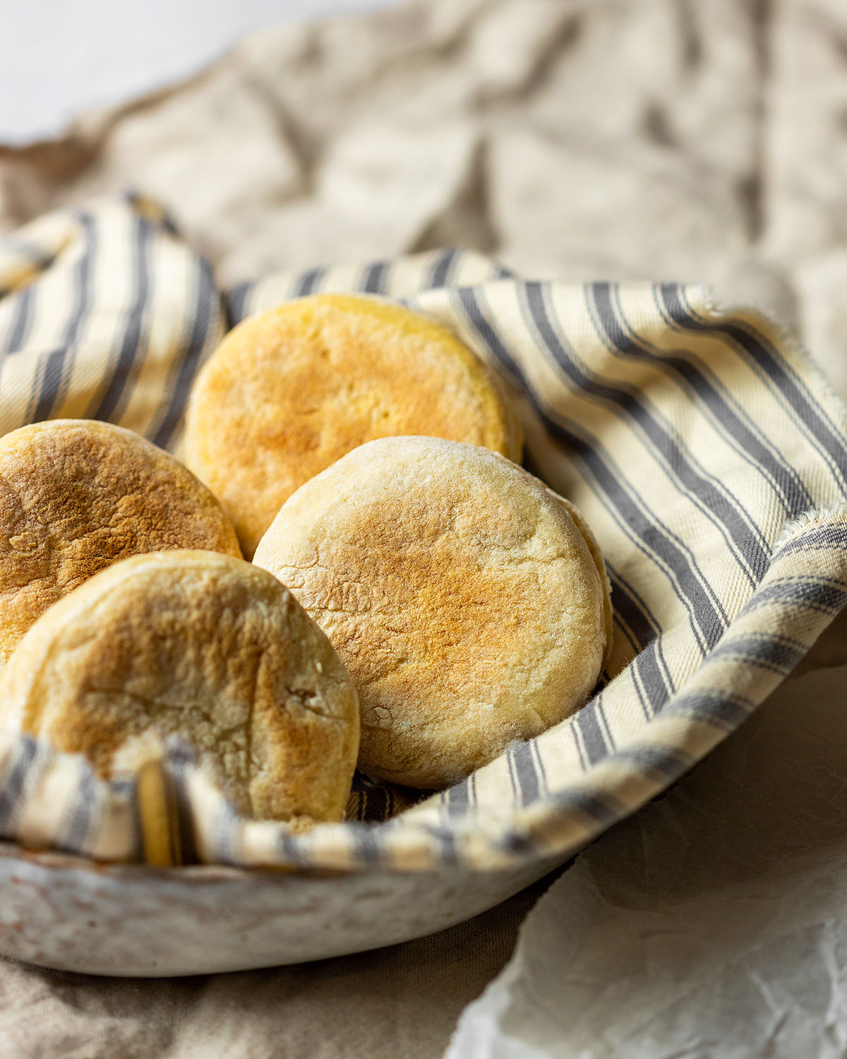
<svg viewBox="0 0 847 1059"><path fill-rule="evenodd" d="M392 0L28 0L3 7L0 141L55 136L108 106L201 69L253 30Z"/></svg>

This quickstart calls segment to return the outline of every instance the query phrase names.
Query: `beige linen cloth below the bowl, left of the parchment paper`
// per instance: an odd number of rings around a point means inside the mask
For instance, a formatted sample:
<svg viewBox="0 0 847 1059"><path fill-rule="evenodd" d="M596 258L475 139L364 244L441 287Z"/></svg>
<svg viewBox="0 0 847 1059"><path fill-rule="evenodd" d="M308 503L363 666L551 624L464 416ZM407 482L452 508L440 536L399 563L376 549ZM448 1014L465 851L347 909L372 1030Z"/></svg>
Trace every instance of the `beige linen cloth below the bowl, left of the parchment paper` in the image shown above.
<svg viewBox="0 0 847 1059"><path fill-rule="evenodd" d="M548 882L432 937L295 967L157 981L0 958L0 1059L439 1059Z"/></svg>

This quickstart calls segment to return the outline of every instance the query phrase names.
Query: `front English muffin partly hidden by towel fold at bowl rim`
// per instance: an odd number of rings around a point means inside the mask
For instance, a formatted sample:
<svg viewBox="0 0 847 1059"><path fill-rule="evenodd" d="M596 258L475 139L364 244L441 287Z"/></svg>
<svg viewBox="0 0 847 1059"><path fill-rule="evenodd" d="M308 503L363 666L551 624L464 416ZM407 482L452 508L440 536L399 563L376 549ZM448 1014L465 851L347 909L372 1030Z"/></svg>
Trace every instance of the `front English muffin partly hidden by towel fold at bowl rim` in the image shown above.
<svg viewBox="0 0 847 1059"><path fill-rule="evenodd" d="M265 571L212 552L115 563L47 611L0 677L6 729L139 771L179 735L241 812L339 821L359 746L349 676Z"/></svg>

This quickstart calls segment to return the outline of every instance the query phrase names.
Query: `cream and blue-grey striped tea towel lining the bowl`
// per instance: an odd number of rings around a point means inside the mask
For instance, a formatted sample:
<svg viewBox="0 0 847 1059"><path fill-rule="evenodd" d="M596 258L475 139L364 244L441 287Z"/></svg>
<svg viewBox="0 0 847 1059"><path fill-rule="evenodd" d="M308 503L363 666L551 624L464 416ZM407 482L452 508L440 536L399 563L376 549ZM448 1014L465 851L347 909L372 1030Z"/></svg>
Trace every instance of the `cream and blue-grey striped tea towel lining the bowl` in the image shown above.
<svg viewBox="0 0 847 1059"><path fill-rule="evenodd" d="M104 860L357 872L564 859L740 724L847 602L847 413L772 323L698 287L525 282L444 251L222 297L155 205L109 199L0 243L0 430L92 416L178 451L227 313L329 290L403 301L509 384L527 466L579 505L608 561L602 689L443 793L415 802L358 776L347 822L299 836L238 816L183 746L154 775L105 782L2 736L0 836Z"/></svg>

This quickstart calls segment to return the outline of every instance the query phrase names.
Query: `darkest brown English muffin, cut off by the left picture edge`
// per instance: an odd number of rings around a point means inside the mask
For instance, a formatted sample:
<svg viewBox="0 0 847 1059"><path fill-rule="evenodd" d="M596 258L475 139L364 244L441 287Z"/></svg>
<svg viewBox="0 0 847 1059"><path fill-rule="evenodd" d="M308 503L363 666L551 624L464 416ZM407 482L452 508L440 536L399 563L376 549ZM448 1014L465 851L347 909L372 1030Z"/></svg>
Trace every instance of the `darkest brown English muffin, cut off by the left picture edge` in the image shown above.
<svg viewBox="0 0 847 1059"><path fill-rule="evenodd" d="M241 554L209 489L139 434L52 419L0 437L0 667L33 622L92 574L186 548Z"/></svg>

